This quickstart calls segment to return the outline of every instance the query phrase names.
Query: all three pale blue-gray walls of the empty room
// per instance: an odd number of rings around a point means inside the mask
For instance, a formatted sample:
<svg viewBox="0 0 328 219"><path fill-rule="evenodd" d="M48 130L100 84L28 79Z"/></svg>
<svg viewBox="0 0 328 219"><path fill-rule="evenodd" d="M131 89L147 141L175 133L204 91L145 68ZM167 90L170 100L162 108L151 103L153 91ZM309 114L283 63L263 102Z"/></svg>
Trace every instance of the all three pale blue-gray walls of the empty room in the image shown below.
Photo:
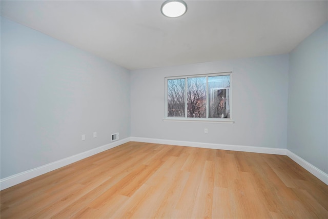
<svg viewBox="0 0 328 219"><path fill-rule="evenodd" d="M1 17L1 178L108 144L114 132L120 138L288 148L327 173L327 26L290 55L130 75ZM162 121L165 76L229 71L234 124Z"/></svg>

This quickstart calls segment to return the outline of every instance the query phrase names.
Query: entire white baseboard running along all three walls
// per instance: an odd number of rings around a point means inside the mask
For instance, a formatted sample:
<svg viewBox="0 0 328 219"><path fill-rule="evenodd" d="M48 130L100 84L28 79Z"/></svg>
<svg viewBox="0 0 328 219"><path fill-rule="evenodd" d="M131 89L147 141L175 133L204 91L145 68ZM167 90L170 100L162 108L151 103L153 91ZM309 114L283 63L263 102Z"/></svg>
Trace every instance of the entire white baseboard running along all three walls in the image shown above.
<svg viewBox="0 0 328 219"><path fill-rule="evenodd" d="M11 186L17 185L24 181L30 180L36 176L45 174L47 172L53 171L60 167L72 164L74 162L83 160L94 154L103 152L105 150L117 147L121 144L127 142L146 142L146 143L155 143L155 144L166 144L166 145L177 145L177 146L189 146L189 147L199 147L199 148L211 148L211 149L220 149L220 150L232 150L232 151L243 151L243 152L254 152L254 153L267 153L267 154L278 154L278 155L287 155L297 164L299 164L304 169L308 170L314 176L319 178L323 183L328 185L328 174L319 170L309 162L303 160L303 158L297 156L288 149L283 148L267 148L267 147L253 147L253 146L242 146L242 145L223 145L223 144L209 144L209 143L199 143L199 142L185 142L185 141L173 141L173 140L163 140L156 138L145 138L145 137L127 137L122 140L103 145L89 151L85 151L70 157L66 157L59 161L55 161L31 170L27 170L15 175L8 176L0 180L0 190L9 188Z"/></svg>

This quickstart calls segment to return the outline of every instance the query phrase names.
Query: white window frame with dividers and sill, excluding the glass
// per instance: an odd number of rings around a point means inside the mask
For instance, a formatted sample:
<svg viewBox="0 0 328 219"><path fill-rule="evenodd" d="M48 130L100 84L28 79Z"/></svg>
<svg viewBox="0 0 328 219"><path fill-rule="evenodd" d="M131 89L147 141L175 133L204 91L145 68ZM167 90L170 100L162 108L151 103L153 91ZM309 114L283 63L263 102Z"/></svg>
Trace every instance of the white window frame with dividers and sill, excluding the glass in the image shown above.
<svg viewBox="0 0 328 219"><path fill-rule="evenodd" d="M209 92L208 92L208 77L210 76L230 76L230 87L229 87L229 107L230 107L230 118L208 118L209 116ZM185 117L168 117L168 80L169 79L183 79L185 78L185 89L187 89L187 78L188 77L206 77L206 118L197 118L197 117L187 117L187 90L186 99L185 99ZM182 76L173 76L165 77L165 117L163 121L165 122L200 122L200 123L234 123L232 120L232 72L221 72L221 73L210 73L210 74L195 74L195 75L182 75Z"/></svg>

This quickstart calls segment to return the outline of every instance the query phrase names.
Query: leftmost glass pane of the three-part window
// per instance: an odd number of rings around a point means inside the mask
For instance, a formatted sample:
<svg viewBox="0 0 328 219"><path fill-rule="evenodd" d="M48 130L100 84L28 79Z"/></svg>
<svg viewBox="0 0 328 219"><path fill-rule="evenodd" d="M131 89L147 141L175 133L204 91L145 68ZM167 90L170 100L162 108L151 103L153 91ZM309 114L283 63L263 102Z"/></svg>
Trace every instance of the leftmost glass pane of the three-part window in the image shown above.
<svg viewBox="0 0 328 219"><path fill-rule="evenodd" d="M168 79L168 117L185 117L185 81Z"/></svg>

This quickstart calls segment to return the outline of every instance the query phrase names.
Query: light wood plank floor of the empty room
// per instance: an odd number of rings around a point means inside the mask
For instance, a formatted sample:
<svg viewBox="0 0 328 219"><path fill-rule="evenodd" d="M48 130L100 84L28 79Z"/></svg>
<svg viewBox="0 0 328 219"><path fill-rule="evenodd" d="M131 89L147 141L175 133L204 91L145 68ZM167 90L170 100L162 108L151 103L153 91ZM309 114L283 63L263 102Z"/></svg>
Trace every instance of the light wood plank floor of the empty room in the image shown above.
<svg viewBox="0 0 328 219"><path fill-rule="evenodd" d="M289 157L129 142L1 191L1 218L328 218Z"/></svg>

